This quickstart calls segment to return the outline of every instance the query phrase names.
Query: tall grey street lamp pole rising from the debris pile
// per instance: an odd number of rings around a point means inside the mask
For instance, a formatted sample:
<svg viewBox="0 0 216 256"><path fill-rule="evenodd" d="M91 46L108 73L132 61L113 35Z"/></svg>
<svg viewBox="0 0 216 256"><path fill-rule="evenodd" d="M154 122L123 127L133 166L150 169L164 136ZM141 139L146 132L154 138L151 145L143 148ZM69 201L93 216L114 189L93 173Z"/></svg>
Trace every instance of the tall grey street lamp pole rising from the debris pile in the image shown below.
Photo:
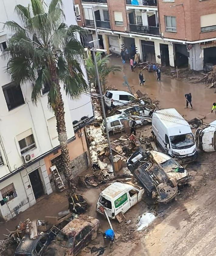
<svg viewBox="0 0 216 256"><path fill-rule="evenodd" d="M99 73L98 73L98 64L97 64L97 60L96 60L96 56L95 56L95 50L91 49L91 51L93 53L94 65L95 65L95 70L96 70L96 74L97 74L97 81L98 81L98 89L99 89L99 94L101 96L100 97L101 107L102 107L102 112L103 112L103 117L104 117L104 124L105 124L105 128L106 128L106 133L107 133L107 140L108 140L108 144L109 144L111 164L112 164L113 174L115 175L115 167L114 167L114 163L113 163L112 148L111 148L110 139L109 139L109 132L108 132L108 128L107 128L107 120L106 120L106 113L105 113L105 108L104 108L104 100L103 100L103 94L102 94L102 90L101 90L101 82L100 82Z"/></svg>

